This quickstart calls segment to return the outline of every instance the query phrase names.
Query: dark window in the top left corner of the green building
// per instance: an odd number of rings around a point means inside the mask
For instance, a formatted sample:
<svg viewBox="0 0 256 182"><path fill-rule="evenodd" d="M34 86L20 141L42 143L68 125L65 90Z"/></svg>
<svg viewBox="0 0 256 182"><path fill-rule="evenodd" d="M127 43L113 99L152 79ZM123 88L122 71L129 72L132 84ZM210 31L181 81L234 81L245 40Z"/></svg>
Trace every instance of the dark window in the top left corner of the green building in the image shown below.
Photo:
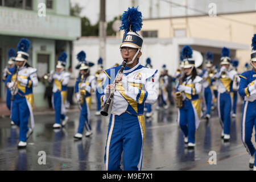
<svg viewBox="0 0 256 182"><path fill-rule="evenodd" d="M32 0L0 0L2 6L32 10Z"/></svg>

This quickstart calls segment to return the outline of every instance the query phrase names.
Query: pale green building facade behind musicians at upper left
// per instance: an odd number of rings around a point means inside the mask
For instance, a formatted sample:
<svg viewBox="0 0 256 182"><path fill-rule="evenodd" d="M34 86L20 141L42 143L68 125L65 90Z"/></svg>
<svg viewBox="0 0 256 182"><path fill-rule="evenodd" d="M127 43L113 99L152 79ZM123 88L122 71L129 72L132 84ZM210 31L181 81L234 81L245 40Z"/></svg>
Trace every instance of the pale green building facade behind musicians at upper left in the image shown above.
<svg viewBox="0 0 256 182"><path fill-rule="evenodd" d="M38 69L38 77L55 68L60 53L67 52L67 68L72 64L73 41L81 36L81 20L70 15L69 0L0 0L0 70L7 65L7 52L16 49L21 38L31 42L28 64ZM44 16L45 15L45 16ZM35 106L45 107L45 86L34 88ZM5 85L0 84L5 100Z"/></svg>

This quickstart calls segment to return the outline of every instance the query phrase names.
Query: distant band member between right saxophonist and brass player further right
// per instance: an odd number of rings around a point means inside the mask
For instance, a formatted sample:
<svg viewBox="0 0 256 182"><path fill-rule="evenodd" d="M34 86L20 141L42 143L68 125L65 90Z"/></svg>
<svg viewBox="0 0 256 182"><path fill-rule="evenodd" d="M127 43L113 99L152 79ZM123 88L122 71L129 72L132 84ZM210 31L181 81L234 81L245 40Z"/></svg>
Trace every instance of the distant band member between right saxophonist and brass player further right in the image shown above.
<svg viewBox="0 0 256 182"><path fill-rule="evenodd" d="M207 52L206 53L206 69L203 70L203 103L204 107L206 108L205 112L205 118L210 119L210 110L212 107L212 101L213 101L213 91L211 89L213 79L213 69L212 69L212 62L213 62L213 53Z"/></svg>

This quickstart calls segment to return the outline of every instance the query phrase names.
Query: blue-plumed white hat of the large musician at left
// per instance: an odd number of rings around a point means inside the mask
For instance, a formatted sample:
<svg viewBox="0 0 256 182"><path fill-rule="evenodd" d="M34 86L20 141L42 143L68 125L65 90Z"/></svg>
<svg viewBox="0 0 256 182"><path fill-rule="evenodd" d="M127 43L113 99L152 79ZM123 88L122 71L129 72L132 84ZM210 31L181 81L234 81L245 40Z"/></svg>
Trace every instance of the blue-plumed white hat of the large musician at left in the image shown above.
<svg viewBox="0 0 256 182"><path fill-rule="evenodd" d="M30 41L28 39L21 39L18 43L17 47L17 55L15 57L15 61L27 61L29 55L28 55L28 49L30 48Z"/></svg>

